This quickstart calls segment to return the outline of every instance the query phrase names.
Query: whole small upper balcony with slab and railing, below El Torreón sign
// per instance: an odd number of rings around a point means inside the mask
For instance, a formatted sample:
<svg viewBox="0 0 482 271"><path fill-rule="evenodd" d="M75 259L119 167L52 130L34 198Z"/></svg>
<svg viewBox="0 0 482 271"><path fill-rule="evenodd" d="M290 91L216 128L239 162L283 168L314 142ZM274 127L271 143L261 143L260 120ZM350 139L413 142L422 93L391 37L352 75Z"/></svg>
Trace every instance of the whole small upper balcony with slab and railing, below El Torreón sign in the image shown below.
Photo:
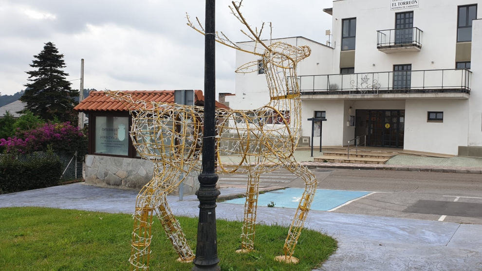
<svg viewBox="0 0 482 271"><path fill-rule="evenodd" d="M422 49L422 33L417 27L379 30L376 48L387 54L418 52Z"/></svg>

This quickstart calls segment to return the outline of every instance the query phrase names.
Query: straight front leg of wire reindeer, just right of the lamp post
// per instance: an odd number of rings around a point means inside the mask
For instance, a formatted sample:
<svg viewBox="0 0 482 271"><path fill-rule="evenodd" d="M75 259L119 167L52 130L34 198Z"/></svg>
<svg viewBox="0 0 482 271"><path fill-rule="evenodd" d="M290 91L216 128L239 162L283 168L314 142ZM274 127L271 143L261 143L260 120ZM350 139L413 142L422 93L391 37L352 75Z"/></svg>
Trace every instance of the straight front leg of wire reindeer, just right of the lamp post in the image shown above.
<svg viewBox="0 0 482 271"><path fill-rule="evenodd" d="M244 219L241 233L241 249L237 253L247 253L254 250L254 237L256 227L256 210L258 207L258 187L260 174L249 172L246 188L246 202L244 203Z"/></svg>

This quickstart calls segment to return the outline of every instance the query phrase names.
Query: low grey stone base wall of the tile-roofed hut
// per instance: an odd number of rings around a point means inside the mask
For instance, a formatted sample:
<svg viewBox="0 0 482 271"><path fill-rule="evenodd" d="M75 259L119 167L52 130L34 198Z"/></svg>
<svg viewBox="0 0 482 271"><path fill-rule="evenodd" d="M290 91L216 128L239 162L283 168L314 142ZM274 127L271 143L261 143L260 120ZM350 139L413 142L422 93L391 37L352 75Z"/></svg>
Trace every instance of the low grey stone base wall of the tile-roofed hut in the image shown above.
<svg viewBox="0 0 482 271"><path fill-rule="evenodd" d="M85 156L85 181L103 187L141 189L152 179L153 163L149 160L111 157L102 155ZM197 176L191 172L184 180L184 195L192 195L199 188ZM171 195L178 195L179 189Z"/></svg>

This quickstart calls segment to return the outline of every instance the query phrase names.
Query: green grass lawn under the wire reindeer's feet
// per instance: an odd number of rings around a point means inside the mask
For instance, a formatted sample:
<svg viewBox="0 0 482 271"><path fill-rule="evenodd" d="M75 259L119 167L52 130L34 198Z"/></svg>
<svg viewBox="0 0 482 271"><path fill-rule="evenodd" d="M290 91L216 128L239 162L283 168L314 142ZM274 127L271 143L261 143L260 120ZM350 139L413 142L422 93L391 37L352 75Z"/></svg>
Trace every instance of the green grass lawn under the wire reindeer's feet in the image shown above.
<svg viewBox="0 0 482 271"><path fill-rule="evenodd" d="M179 217L195 248L197 218ZM218 253L222 270L311 270L336 250L336 241L304 230L295 266L274 261L281 254L287 228L257 226L256 252L237 254L241 222L218 220ZM0 208L0 270L129 270L132 218L37 207ZM158 220L152 228L151 270L190 270L177 263Z"/></svg>

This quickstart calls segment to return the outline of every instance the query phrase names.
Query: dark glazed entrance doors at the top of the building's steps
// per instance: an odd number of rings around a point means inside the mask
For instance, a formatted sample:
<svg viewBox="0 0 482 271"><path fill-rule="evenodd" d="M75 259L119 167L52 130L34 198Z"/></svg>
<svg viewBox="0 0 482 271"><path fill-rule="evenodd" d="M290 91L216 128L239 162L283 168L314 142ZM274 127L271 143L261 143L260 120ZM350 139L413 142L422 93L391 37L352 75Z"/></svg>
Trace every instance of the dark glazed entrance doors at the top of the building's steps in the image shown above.
<svg viewBox="0 0 482 271"><path fill-rule="evenodd" d="M357 109L355 136L367 135L367 145L403 148L405 110Z"/></svg>

